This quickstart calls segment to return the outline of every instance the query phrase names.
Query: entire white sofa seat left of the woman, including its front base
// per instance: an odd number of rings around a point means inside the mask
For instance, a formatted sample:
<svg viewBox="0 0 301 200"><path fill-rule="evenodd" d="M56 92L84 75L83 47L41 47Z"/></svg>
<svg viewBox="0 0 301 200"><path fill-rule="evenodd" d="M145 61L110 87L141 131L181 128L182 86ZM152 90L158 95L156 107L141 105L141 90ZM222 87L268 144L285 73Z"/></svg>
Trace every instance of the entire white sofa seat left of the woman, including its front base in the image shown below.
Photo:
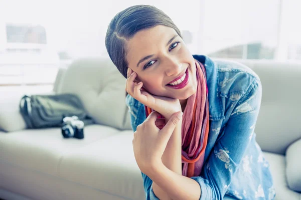
<svg viewBox="0 0 301 200"><path fill-rule="evenodd" d="M63 138L60 128L0 134L0 188L32 199L143 199L133 132L99 124L84 131L84 139ZM120 152L109 151L115 144Z"/></svg>

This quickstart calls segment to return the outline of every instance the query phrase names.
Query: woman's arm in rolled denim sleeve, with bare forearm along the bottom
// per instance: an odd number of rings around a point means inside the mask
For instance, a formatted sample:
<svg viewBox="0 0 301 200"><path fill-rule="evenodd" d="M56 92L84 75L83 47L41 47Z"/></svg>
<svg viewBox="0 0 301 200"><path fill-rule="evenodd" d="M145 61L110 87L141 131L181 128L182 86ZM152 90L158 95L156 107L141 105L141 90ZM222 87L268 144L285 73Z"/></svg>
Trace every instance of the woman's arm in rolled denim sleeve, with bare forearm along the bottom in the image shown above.
<svg viewBox="0 0 301 200"><path fill-rule="evenodd" d="M223 135L204 163L203 177L184 177L164 166L149 174L173 199L223 199L225 186L231 183L249 144L260 108L260 82L255 80L248 91L231 111L225 129L220 133ZM152 188L150 193L152 195Z"/></svg>

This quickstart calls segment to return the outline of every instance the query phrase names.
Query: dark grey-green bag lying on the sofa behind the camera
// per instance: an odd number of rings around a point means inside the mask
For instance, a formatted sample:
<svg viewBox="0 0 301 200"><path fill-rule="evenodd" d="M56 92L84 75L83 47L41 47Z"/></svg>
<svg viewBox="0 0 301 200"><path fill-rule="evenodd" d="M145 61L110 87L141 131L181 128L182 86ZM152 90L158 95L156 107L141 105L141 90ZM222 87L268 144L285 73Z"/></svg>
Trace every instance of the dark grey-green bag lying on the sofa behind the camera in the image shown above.
<svg viewBox="0 0 301 200"><path fill-rule="evenodd" d="M61 126L63 117L73 115L85 125L93 123L75 94L24 95L20 112L28 128Z"/></svg>

